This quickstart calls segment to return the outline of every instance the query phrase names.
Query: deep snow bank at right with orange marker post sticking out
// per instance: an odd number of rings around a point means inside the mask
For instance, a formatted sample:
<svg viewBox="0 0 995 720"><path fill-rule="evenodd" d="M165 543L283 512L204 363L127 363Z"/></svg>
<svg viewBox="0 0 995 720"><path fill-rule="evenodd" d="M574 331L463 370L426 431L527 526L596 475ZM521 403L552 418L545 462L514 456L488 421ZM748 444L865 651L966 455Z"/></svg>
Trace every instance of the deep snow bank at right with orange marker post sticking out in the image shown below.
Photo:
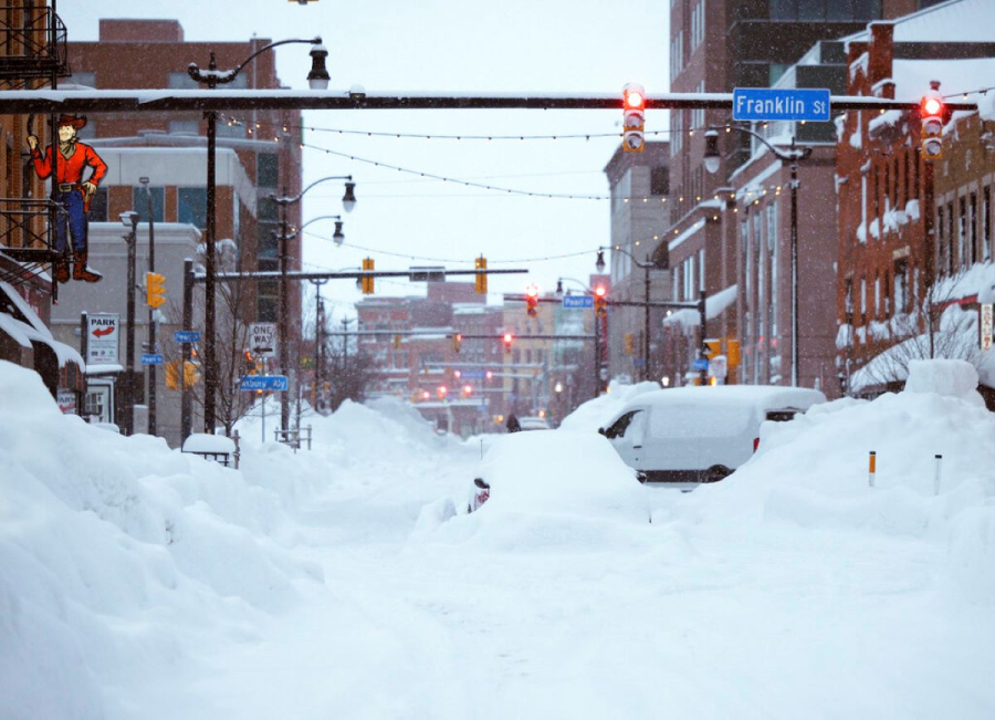
<svg viewBox="0 0 995 720"><path fill-rule="evenodd" d="M790 422L765 422L748 462L667 514L729 528L789 522L938 539L965 586L995 599L995 415L976 386L970 363L919 361L898 395L837 400Z"/></svg>

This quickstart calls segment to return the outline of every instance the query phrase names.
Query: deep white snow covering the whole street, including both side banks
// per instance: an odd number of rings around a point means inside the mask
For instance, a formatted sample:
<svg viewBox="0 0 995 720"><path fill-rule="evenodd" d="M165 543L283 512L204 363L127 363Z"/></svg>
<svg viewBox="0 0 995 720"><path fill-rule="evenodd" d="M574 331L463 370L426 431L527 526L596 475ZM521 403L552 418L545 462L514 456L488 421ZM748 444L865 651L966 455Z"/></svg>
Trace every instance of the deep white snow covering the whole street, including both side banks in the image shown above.
<svg viewBox="0 0 995 720"><path fill-rule="evenodd" d="M767 427L721 483L645 488L649 523L467 515L480 439L400 405L314 417L311 452L247 440L234 472L61 416L31 378L0 364L38 408L0 419L4 718L995 712L995 420L966 399Z"/></svg>

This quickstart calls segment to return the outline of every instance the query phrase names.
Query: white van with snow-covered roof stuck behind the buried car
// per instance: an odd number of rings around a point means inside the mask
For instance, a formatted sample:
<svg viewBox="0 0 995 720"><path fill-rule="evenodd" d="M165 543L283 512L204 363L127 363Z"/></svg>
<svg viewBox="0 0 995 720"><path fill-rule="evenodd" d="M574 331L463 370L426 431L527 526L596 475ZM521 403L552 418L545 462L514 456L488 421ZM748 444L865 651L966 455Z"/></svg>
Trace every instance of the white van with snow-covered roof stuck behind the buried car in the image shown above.
<svg viewBox="0 0 995 720"><path fill-rule="evenodd" d="M790 420L825 401L804 387L679 387L632 398L598 431L647 482L715 482L756 451L764 420Z"/></svg>

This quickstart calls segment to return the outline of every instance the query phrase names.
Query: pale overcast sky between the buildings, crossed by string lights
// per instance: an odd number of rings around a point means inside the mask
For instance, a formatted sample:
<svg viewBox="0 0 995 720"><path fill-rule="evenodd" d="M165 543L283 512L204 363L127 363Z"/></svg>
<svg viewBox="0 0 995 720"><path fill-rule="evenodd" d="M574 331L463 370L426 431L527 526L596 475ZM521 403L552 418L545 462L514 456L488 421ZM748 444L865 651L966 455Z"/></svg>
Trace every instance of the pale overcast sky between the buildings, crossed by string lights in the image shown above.
<svg viewBox="0 0 995 720"><path fill-rule="evenodd" d="M70 41L96 40L100 18L175 18L190 41L244 41L253 33L283 40L321 34L328 48L332 88L369 92L501 91L619 93L627 82L668 90L669 3L649 0L62 0L57 12ZM307 48L280 48L284 84L306 87ZM177 70L207 58L177 58ZM82 70L82 69L81 69ZM416 134L554 135L614 133L614 111L334 111L307 112L305 125ZM647 129L666 128L651 112ZM606 195L605 164L618 138L446 140L371 138L314 132L312 145L388 165L534 192ZM607 200L528 198L374 167L306 149L305 184L353 175L357 207L345 218L346 244L335 248L333 223L305 230L305 268L355 268L370 255L378 270L412 264L527 268L492 278L490 302L530 282L553 290L559 275L586 279L595 251L609 240ZM342 185L318 186L304 199L304 220L341 212ZM661 215L661 229L663 219ZM585 252L587 251L587 252ZM583 252L580 257L544 260ZM394 253L394 254L391 254ZM438 260L438 262L437 262ZM507 262L514 261L514 262ZM469 279L468 279L469 280ZM423 292L422 285L378 281L377 294ZM325 285L344 312L360 295L349 282ZM308 293L311 294L311 293Z"/></svg>

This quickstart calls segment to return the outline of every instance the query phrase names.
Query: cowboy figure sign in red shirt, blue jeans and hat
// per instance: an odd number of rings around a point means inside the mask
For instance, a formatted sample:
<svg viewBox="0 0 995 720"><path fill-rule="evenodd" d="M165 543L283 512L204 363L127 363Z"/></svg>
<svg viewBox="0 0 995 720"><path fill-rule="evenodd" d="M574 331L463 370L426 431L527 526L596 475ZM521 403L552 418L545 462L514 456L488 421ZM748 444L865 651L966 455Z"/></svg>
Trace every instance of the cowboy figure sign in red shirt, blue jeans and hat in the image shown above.
<svg viewBox="0 0 995 720"><path fill-rule="evenodd" d="M42 179L52 176L55 167L55 201L65 210L69 219L69 231L73 237L73 280L97 282L103 275L86 267L86 213L90 201L96 192L97 184L107 173L107 165L88 145L76 140L76 132L86 125L86 118L76 115L62 115L59 118L59 155L50 145L42 157L38 148L38 138L28 136L34 171ZM91 168L90 177L83 179L83 171ZM65 261L66 237L65 222L55 223L55 279L69 282L69 264Z"/></svg>

